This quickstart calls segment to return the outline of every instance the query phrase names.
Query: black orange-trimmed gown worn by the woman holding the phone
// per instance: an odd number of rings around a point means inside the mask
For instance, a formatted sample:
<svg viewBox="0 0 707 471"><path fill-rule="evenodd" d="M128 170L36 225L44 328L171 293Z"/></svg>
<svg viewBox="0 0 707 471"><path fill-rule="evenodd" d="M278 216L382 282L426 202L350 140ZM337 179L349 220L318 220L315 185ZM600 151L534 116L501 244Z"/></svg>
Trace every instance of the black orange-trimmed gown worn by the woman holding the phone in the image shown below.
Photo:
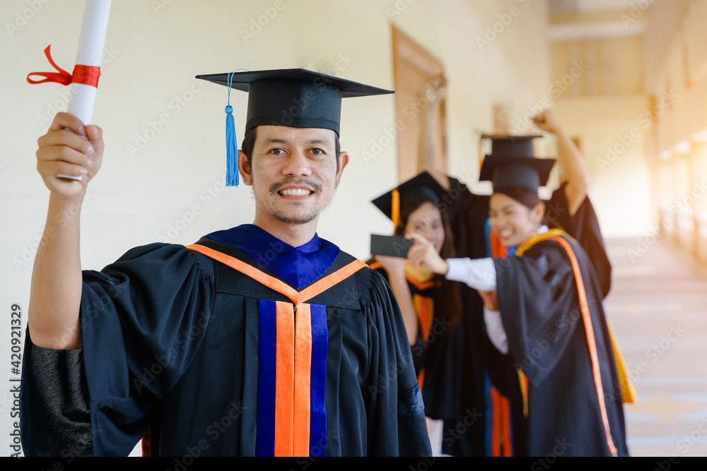
<svg viewBox="0 0 707 471"><path fill-rule="evenodd" d="M602 308L602 287L583 249L564 239L580 268L593 341L588 340L578 282L563 246L547 240L523 256L493 259L508 357L528 380L527 422L517 425L527 427L527 454L531 456L611 455L603 403L612 442L619 455L628 455L623 404L613 388L617 370ZM600 378L592 374L592 351L597 355ZM522 410L517 400L513 405Z"/></svg>

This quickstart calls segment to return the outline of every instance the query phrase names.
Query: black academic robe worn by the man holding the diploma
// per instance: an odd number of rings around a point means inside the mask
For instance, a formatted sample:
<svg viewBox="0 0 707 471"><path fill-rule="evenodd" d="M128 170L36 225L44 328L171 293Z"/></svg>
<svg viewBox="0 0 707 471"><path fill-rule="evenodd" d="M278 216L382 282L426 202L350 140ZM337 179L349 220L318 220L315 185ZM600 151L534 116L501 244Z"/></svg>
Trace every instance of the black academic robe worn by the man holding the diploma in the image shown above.
<svg viewBox="0 0 707 471"><path fill-rule="evenodd" d="M277 278L232 246L198 244ZM341 252L319 280L354 261ZM291 300L175 244L84 271L83 349L25 343L25 454L127 455L151 429L152 455L255 455L262 302ZM326 436L316 445L329 456L431 455L385 280L364 267L303 302L325 306L328 328Z"/></svg>

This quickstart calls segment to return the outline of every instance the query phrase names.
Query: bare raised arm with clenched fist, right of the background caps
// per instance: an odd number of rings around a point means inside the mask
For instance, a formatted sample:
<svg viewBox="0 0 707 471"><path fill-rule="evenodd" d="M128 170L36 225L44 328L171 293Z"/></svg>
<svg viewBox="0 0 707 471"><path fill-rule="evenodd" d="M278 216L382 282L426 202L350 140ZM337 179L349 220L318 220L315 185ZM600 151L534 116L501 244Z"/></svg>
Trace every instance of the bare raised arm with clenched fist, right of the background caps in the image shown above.
<svg viewBox="0 0 707 471"><path fill-rule="evenodd" d="M533 123L543 131L557 136L557 153L563 168L561 179L567 181L565 195L569 204L570 215L575 215L587 196L587 190L591 182L589 169L584 157L550 109L546 109L534 117Z"/></svg>

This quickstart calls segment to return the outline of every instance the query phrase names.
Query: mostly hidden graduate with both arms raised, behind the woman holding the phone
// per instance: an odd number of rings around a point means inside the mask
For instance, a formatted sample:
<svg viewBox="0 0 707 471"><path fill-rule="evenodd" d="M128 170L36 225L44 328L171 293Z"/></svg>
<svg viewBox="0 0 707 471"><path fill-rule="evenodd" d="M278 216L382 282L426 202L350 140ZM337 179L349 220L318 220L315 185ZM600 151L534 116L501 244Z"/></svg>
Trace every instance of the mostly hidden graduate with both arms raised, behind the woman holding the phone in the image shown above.
<svg viewBox="0 0 707 471"><path fill-rule="evenodd" d="M515 249L506 248L498 242L498 237L489 225L489 196L473 193L462 181L434 169L436 162L444 160L444 156L439 155L444 146L437 141L436 130L439 127L440 103L445 97L446 88L447 82L445 78L441 78L431 81L426 89L425 97L430 101L430 105L424 115L419 159L421 162L427 162L430 173L448 190L438 207L448 215L457 256L485 258L512 255ZM595 268L605 296L611 285L611 264L604 249L597 215L587 196L590 174L584 157L551 110L541 112L533 117L532 121L542 131L556 136L558 162L562 170L561 185L552 192L549 201L544 201L547 225L562 229L582 246ZM497 149L502 148L505 143L521 144L513 139L503 141L493 137L493 152L488 158L498 154ZM530 151L532 155L532 147ZM461 374L461 410L483 412L484 415L473 427L467 427L464 434L449 434L448 439L444 441L444 453L455 456L518 455L524 448L524 438L512 427L508 395L520 394L520 390L518 385L515 385L515 390L503 394L494 385L495 381L491 381L486 365L496 361L498 351L488 345L483 317L484 303L477 290L466 286L462 286L461 297L464 315L460 318L459 328L466 332L464 358L467 359ZM465 416L457 417L448 421L445 430L453 431L464 418Z"/></svg>

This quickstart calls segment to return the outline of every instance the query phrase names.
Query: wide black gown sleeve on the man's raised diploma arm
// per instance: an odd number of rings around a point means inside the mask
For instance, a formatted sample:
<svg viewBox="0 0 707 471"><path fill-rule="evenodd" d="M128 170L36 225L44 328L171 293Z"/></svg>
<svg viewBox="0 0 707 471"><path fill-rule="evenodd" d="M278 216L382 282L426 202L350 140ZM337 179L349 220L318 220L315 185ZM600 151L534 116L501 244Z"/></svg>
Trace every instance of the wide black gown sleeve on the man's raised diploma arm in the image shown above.
<svg viewBox="0 0 707 471"><path fill-rule="evenodd" d="M30 359L36 362L23 370L30 379L24 385L29 401L22 404L23 409L45 407L64 417L58 422L50 417L45 423L57 427L40 431L37 417L29 415L32 422L23 424L23 443L42 443L46 441L42 436L47 435L69 441L63 434L70 427L62 424L77 422L71 427L90 430L90 437L83 440L93 443L93 455L128 455L150 427L156 400L169 393L192 361L213 302L211 261L183 246L136 247L100 272L85 270L82 349L58 351L37 349L31 342L25 345L25 352L30 349ZM83 368L77 369L81 363ZM47 367L57 381L31 381L37 378L36 371ZM67 417L56 403L57 396L81 413ZM85 413L87 399L89 415Z"/></svg>

